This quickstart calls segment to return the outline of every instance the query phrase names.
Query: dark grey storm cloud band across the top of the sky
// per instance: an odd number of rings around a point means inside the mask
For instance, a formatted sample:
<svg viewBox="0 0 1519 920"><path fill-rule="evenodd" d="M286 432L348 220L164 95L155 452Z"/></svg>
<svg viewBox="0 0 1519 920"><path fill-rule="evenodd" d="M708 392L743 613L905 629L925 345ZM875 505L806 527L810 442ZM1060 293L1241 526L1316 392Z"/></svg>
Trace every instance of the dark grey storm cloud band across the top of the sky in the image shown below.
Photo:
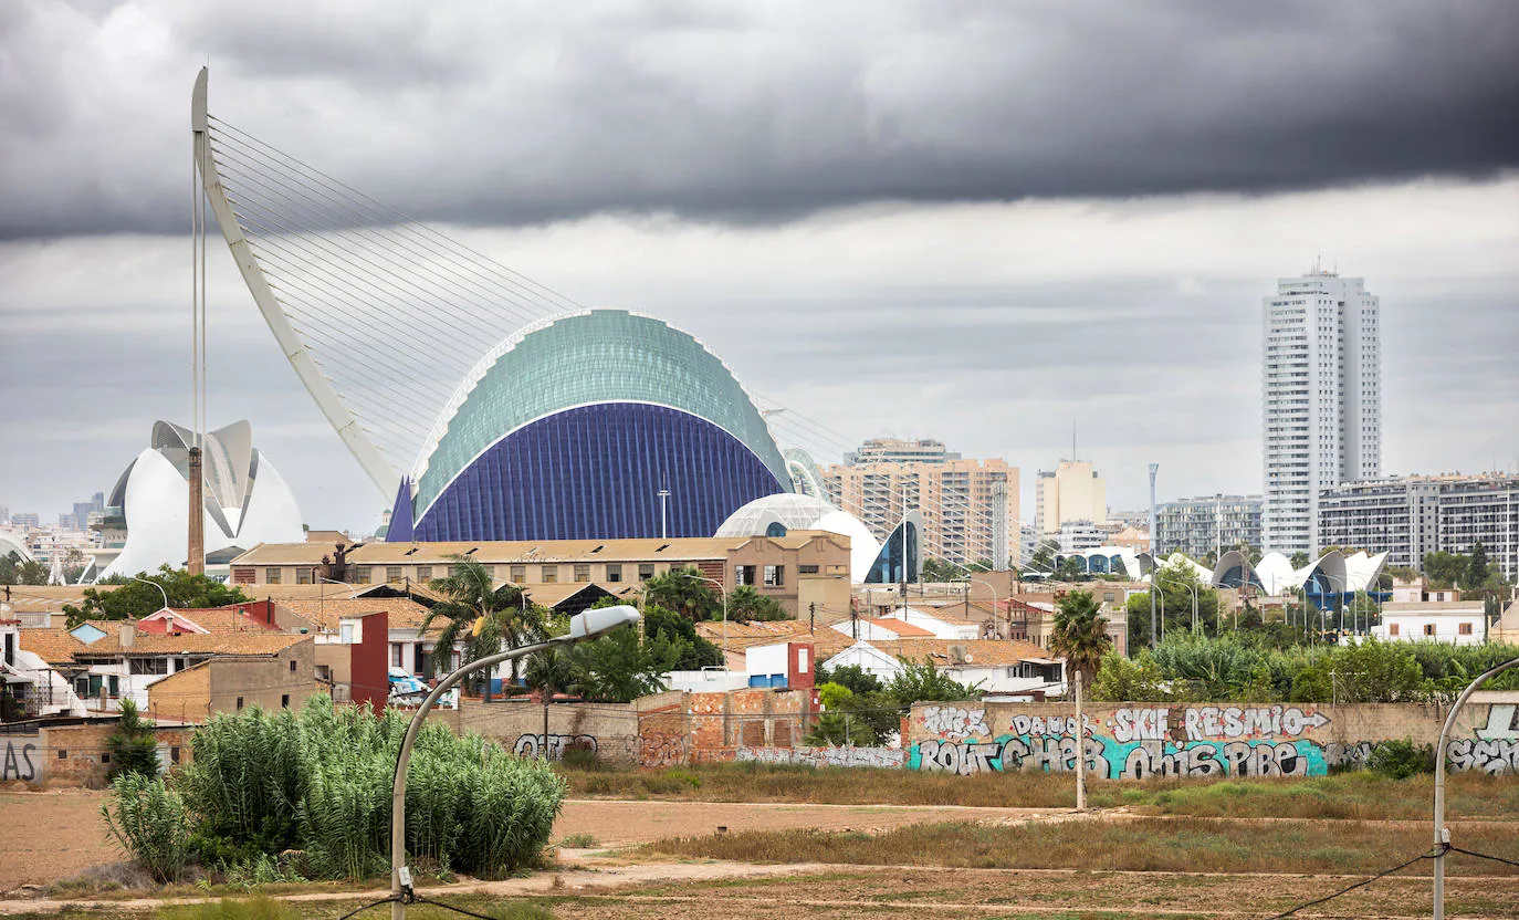
<svg viewBox="0 0 1519 920"><path fill-rule="evenodd" d="M1519 165L1511 0L3 5L0 237L181 231L207 58L220 117L480 225Z"/></svg>

